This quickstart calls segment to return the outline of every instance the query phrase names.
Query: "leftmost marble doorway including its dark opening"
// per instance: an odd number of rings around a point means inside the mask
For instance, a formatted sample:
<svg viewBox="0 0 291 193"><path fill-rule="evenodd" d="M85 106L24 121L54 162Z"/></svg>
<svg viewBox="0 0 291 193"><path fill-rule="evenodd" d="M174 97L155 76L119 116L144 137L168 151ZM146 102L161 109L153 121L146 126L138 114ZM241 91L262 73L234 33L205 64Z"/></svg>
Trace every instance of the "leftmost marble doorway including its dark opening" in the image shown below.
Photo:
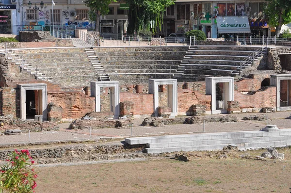
<svg viewBox="0 0 291 193"><path fill-rule="evenodd" d="M47 84L17 84L17 88L20 90L20 118L34 120L35 115L42 115L42 119L47 120Z"/></svg>

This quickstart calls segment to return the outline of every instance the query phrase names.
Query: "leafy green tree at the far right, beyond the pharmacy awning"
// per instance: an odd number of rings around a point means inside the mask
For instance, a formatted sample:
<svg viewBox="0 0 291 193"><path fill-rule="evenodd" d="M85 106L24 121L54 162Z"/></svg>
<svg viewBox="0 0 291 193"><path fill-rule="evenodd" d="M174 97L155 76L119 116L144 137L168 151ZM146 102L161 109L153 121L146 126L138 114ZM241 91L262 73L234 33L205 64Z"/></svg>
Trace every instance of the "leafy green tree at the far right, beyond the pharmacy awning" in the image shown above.
<svg viewBox="0 0 291 193"><path fill-rule="evenodd" d="M283 24L291 22L291 0L266 0L266 14L271 26L276 27L279 37Z"/></svg>

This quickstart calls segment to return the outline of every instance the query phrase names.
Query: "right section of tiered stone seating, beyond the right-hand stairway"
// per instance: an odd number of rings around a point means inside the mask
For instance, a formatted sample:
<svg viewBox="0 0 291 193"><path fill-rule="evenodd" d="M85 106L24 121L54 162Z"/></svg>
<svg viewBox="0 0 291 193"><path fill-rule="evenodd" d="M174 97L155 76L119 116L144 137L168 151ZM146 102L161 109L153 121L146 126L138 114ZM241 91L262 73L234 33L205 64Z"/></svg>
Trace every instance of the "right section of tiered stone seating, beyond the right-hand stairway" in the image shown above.
<svg viewBox="0 0 291 193"><path fill-rule="evenodd" d="M239 76L264 55L264 48L238 46L191 46L174 77Z"/></svg>

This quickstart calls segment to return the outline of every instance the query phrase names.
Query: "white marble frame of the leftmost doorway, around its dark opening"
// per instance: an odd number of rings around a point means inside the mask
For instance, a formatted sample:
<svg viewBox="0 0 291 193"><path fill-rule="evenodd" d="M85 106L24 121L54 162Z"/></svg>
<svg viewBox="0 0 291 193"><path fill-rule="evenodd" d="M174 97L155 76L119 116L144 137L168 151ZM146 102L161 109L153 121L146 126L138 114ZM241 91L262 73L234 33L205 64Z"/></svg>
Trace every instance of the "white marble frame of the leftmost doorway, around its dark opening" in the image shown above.
<svg viewBox="0 0 291 193"><path fill-rule="evenodd" d="M27 100L26 100L26 91L35 92L35 112L38 115L43 116L43 120L48 119L48 93L47 93L47 84L44 83L33 83L33 84L17 84L17 88L20 91L20 118L27 119ZM34 118L33 118L34 119Z"/></svg>

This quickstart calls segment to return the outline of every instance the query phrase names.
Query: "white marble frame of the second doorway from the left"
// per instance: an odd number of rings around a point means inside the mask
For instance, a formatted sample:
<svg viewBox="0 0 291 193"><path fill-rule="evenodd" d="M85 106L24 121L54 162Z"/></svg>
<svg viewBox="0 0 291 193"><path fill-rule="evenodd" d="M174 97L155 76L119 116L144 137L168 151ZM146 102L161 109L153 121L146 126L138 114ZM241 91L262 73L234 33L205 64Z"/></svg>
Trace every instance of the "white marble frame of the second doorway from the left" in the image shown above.
<svg viewBox="0 0 291 193"><path fill-rule="evenodd" d="M113 118L118 119L120 115L119 81L91 82L91 96L95 96L96 112L101 112L100 87L110 88L110 109L113 111Z"/></svg>

